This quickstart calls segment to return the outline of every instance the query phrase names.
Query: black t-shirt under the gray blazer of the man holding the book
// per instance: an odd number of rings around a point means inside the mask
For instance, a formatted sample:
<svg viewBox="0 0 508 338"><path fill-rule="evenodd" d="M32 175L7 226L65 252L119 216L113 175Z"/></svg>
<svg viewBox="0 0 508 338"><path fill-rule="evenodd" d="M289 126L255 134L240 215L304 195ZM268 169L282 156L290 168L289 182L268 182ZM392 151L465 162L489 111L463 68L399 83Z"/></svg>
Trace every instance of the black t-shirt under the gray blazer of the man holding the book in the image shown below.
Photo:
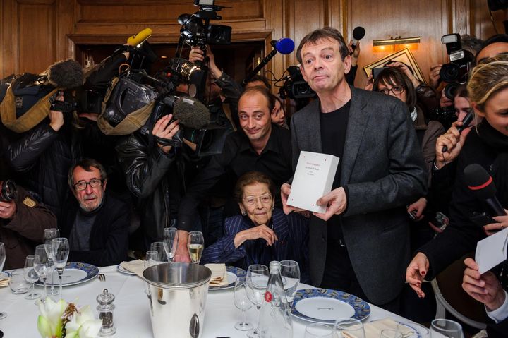
<svg viewBox="0 0 508 338"><path fill-rule="evenodd" d="M346 130L349 120L349 109L351 100L336 111L320 114L321 124L321 149L323 154L339 157L339 165L335 174L332 190L340 186L342 155L344 154L344 143L346 143ZM337 243L339 240L344 243L344 235L341 229L341 217L333 215L328 220L328 243Z"/></svg>

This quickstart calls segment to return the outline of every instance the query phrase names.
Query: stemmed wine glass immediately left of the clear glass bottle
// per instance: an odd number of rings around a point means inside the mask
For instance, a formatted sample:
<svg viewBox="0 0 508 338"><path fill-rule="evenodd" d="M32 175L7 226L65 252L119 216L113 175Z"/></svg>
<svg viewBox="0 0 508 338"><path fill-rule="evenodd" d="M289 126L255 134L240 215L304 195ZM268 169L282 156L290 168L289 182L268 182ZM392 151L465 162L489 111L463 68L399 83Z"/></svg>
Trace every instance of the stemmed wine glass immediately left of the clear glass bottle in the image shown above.
<svg viewBox="0 0 508 338"><path fill-rule="evenodd" d="M253 264L247 269L247 297L258 309L258 321L259 321L259 310L262 305L263 298L265 298L265 291L268 284L268 267L266 265ZM248 337L257 338L258 327L253 332L247 334Z"/></svg>

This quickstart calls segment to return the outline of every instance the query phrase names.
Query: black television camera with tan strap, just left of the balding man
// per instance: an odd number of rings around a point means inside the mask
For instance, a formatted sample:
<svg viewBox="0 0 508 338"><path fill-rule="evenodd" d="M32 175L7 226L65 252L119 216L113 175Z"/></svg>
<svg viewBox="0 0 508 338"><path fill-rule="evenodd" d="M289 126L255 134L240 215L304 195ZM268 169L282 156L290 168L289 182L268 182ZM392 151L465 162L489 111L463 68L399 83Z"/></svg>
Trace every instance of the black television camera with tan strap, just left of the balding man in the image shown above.
<svg viewBox="0 0 508 338"><path fill-rule="evenodd" d="M173 114L174 119L179 120L179 132L171 140L157 139L158 143L179 147L185 138L195 143L198 156L222 152L228 134L226 131L229 130L210 123L210 111L200 102L203 92L200 88L204 87L206 78L205 66L179 57L170 59L168 66L155 76L149 76L143 70L129 69L119 76L107 96L102 117L109 124L108 130L111 130L110 127L120 130L123 126L131 126L135 130L109 134L126 135L135 131L150 135L157 119ZM189 85L193 97L179 95L176 88L181 83Z"/></svg>

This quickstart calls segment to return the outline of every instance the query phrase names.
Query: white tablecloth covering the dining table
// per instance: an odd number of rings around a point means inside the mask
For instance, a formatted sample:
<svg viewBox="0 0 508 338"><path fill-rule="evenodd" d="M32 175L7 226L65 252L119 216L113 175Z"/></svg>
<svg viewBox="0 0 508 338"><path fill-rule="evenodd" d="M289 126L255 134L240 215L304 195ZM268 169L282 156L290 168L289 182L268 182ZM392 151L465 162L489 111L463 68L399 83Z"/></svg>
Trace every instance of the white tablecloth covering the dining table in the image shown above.
<svg viewBox="0 0 508 338"><path fill-rule="evenodd" d="M108 289L116 297L114 301L116 334L113 337L153 337L145 282L137 276L121 274L116 270L116 266L102 267L100 273L106 275L105 282L95 278L83 284L64 286L63 299L77 303L78 306L90 305L95 310L97 296L102 293L103 289ZM306 287L308 286L301 284L300 289ZM36 289L42 291L38 286ZM0 330L4 332L4 338L40 337L37 332L39 310L34 301L28 301L23 298L24 296L25 294L13 294L8 287L0 289L0 311L8 314L7 318L0 320ZM371 313L367 321L389 317L408 322L408 320L372 304L370 304L370 308ZM95 313L98 318L97 311ZM247 320L250 322L257 320L255 307L250 308L246 313ZM303 337L308 322L294 317L292 319L293 337ZM241 311L234 306L232 289L209 292L202 338L245 338L246 332L235 330L233 327L234 322L238 320L241 320Z"/></svg>

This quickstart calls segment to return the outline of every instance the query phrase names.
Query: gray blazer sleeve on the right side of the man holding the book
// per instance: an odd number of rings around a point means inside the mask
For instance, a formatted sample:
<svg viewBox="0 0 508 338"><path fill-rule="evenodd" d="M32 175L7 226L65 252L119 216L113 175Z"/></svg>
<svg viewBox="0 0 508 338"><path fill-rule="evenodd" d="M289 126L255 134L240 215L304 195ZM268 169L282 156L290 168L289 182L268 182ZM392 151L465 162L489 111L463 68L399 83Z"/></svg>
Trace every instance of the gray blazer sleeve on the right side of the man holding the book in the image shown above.
<svg viewBox="0 0 508 338"><path fill-rule="evenodd" d="M372 181L352 180L350 182L353 183L347 184L349 200L344 214L346 217L407 205L427 192L427 177L421 149L405 105L390 104L389 107L383 108L379 108L376 114L389 115L388 128L385 131L387 134L382 130L376 130L377 123L374 121L367 133L372 135L377 133L380 140L377 149L361 148L358 157L363 157L361 160L366 164L365 166L355 164L356 168L363 167L363 170L370 167ZM377 169L373 168L372 163L376 164ZM386 174L378 175L383 170L386 170ZM369 175L366 174L364 177L368 178Z"/></svg>

